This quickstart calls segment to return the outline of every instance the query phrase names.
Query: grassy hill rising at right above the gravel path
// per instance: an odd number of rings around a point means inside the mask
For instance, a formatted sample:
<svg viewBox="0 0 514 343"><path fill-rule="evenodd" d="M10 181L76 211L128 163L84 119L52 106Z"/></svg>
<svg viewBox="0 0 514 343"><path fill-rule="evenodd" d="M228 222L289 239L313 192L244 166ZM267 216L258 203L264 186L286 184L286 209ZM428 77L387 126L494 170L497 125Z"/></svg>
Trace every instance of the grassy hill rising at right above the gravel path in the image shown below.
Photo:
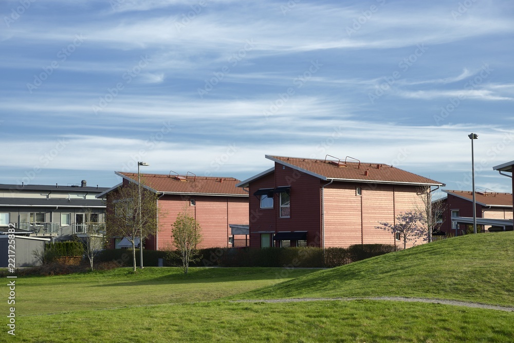
<svg viewBox="0 0 514 343"><path fill-rule="evenodd" d="M514 305L514 232L433 242L237 295L240 299L402 296Z"/></svg>

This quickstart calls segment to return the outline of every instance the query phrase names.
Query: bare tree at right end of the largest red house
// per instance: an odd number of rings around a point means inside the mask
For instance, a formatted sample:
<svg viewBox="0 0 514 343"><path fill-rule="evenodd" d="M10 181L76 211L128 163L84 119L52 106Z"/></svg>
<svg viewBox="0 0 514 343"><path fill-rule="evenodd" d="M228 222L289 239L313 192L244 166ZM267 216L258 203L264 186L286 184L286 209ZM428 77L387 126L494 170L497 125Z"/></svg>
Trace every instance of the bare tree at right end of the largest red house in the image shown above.
<svg viewBox="0 0 514 343"><path fill-rule="evenodd" d="M418 188L417 193L421 195L423 204L417 205L416 211L423 215L420 224L423 226L427 240L430 243L432 242L432 233L439 231L442 224L442 215L446 210L446 205L442 201L432 201L430 186Z"/></svg>

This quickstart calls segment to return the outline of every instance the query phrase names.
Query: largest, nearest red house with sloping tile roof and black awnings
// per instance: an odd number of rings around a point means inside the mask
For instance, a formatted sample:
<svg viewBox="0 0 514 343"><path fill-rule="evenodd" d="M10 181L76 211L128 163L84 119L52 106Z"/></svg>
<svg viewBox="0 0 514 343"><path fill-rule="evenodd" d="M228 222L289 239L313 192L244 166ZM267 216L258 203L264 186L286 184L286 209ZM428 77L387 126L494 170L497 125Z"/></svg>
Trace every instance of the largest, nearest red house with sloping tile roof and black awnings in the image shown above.
<svg viewBox="0 0 514 343"><path fill-rule="evenodd" d="M252 247L396 244L399 237L375 228L379 222L393 223L396 215L423 207L421 189L444 186L351 157L266 158L273 168L237 184L249 188Z"/></svg>

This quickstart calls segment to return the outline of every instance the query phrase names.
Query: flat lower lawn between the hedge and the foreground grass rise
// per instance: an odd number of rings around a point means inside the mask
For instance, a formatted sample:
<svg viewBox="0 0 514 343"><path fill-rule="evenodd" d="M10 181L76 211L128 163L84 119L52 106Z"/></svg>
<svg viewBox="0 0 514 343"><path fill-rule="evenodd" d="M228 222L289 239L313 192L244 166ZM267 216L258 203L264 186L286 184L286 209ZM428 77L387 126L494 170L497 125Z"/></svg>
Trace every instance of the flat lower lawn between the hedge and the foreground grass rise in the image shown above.
<svg viewBox="0 0 514 343"><path fill-rule="evenodd" d="M59 313L121 306L214 300L283 281L281 268L131 268L16 280L16 311L20 315ZM295 278L316 269L296 269ZM7 287L0 296L7 299Z"/></svg>

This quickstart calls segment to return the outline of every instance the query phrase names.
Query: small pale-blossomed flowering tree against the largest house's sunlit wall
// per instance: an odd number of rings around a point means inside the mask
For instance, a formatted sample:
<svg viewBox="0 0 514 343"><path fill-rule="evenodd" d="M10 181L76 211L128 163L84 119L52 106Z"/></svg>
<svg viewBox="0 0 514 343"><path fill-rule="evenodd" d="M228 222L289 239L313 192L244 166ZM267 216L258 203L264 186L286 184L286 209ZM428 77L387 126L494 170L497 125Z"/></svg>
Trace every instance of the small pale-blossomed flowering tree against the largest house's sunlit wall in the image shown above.
<svg viewBox="0 0 514 343"><path fill-rule="evenodd" d="M407 248L407 241L416 240L422 238L427 241L425 229L423 224L425 216L419 212L404 212L396 216L396 223L390 224L387 222L378 222L380 226L375 226L377 229L389 231L396 236L399 236L403 240L403 249Z"/></svg>

